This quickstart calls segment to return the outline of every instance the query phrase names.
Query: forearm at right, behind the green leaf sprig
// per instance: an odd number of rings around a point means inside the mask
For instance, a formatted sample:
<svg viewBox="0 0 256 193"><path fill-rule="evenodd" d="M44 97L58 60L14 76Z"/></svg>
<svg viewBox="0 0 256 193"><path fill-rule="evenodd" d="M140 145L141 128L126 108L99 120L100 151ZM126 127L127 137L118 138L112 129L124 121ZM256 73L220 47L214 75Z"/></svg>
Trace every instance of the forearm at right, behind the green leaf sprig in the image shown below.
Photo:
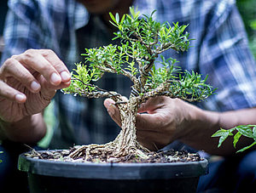
<svg viewBox="0 0 256 193"><path fill-rule="evenodd" d="M242 138L233 146L233 139L228 138L218 148L218 138L212 138L212 134L219 128L229 129L242 124L256 124L256 109L245 109L240 111L213 112L196 110L195 122L191 124L186 135L180 140L197 150L205 150L210 154L228 156L252 143L251 139Z"/></svg>

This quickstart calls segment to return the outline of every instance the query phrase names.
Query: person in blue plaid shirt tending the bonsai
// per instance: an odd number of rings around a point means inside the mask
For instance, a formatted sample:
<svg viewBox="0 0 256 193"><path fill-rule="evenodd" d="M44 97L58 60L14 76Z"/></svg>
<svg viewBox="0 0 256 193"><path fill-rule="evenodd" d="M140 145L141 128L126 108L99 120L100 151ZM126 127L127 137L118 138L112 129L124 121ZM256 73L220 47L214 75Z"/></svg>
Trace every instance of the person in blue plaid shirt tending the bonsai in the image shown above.
<svg viewBox="0 0 256 193"><path fill-rule="evenodd" d="M179 60L183 69L208 75L208 82L218 88L218 94L196 104L165 97L150 99L139 111L148 114L137 116L137 139L148 148L152 148L152 143L162 148L179 140L213 155L234 154L232 143L228 141L217 148L218 139L211 138L218 128L256 123L255 62L234 0L9 1L4 31L6 46L0 68L3 148L11 142L35 144L42 139L46 132L42 115L53 98L56 124L50 148L114 139L119 128L110 120L108 112L117 123L119 115L113 101L105 100L108 111L104 111L103 100L64 95L60 89L69 86L70 71L75 62L83 60L79 54L84 48L112 43L115 29L108 23L108 12L125 14L131 5L142 14L156 9L155 19L161 23L189 24L187 31L195 38L189 51L183 54L167 51L164 55ZM98 83L126 96L130 93L127 89L130 83L124 77L107 75ZM243 139L237 148L248 143ZM255 171L252 162L255 151L247 155L239 158L236 165L226 164L236 175L221 170L219 179L241 177L242 173L246 177L234 179L232 183L240 185L248 176L253 183L255 175L250 175ZM219 184L216 179L222 166L224 162L215 165L215 170L210 167L211 172L201 179L198 191L233 190L235 185Z"/></svg>

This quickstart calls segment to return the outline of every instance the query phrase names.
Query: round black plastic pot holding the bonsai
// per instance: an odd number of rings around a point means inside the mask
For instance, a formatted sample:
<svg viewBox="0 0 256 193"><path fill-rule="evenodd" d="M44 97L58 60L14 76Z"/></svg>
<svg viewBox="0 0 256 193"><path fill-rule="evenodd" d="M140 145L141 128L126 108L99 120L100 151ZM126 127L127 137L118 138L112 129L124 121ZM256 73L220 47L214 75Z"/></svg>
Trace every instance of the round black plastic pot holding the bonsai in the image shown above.
<svg viewBox="0 0 256 193"><path fill-rule="evenodd" d="M207 160L173 163L77 163L19 158L32 193L195 192Z"/></svg>

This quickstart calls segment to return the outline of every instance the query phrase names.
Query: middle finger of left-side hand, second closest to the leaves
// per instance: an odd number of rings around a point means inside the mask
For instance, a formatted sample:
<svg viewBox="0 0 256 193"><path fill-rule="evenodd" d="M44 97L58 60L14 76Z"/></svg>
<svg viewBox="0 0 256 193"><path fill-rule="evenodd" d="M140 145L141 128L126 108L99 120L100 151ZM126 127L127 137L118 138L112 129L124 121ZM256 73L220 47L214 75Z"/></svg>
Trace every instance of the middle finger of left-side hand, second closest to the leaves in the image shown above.
<svg viewBox="0 0 256 193"><path fill-rule="evenodd" d="M28 69L38 71L39 74L42 74L53 85L59 85L61 83L59 72L37 50L26 50L24 54L16 56L16 60L19 60Z"/></svg>

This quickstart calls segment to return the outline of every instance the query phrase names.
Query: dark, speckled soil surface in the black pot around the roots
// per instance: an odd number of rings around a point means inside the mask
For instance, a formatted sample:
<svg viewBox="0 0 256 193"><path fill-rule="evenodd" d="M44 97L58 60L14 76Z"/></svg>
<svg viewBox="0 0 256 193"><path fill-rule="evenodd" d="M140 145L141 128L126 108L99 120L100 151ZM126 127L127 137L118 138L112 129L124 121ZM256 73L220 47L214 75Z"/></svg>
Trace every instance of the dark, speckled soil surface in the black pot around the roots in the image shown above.
<svg viewBox="0 0 256 193"><path fill-rule="evenodd" d="M64 162L85 162L84 152L81 151L79 156L71 158L69 155L77 150L79 146L74 146L69 150L31 150L26 153L27 157L35 159L52 160L52 161L64 161ZM92 153L93 155L93 153ZM201 156L197 153L189 153L186 150L159 150L157 152L148 153L148 158L143 159L137 156L125 156L120 158L113 158L107 161L108 152L101 155L93 155L90 161L86 162L124 162L124 163L166 163L166 162L199 162L202 160Z"/></svg>

